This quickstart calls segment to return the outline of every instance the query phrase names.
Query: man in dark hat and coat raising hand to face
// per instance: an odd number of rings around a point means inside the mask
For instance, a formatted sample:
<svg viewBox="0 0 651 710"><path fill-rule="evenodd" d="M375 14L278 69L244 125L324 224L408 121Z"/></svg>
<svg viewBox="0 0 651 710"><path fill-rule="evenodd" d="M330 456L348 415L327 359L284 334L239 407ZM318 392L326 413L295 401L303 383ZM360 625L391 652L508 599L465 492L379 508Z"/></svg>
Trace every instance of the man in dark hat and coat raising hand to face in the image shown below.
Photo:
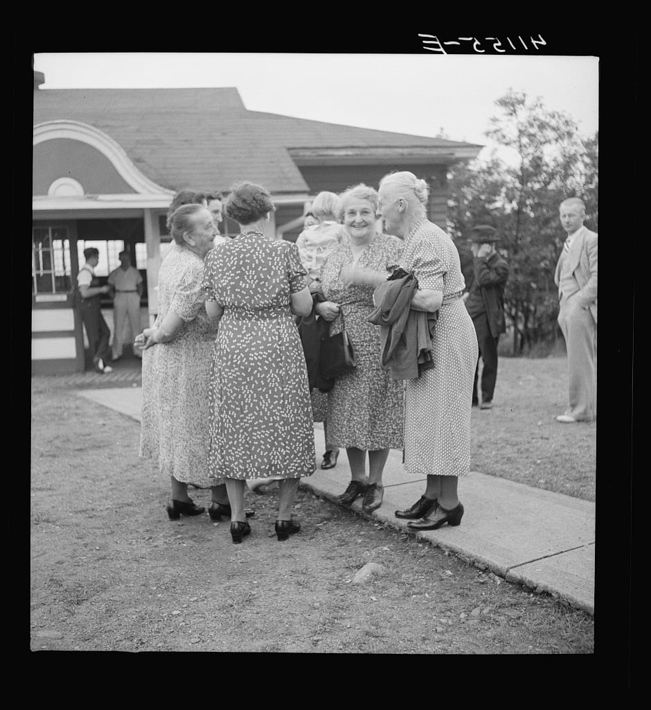
<svg viewBox="0 0 651 710"><path fill-rule="evenodd" d="M495 249L499 241L497 231L489 224L478 224L470 230L470 251L472 251L472 273L466 284L464 295L466 309L474 323L482 358L482 409L491 409L497 379L497 342L506 331L504 319L504 288L508 280L508 263ZM479 404L477 380L479 359L474 371L472 405Z"/></svg>

